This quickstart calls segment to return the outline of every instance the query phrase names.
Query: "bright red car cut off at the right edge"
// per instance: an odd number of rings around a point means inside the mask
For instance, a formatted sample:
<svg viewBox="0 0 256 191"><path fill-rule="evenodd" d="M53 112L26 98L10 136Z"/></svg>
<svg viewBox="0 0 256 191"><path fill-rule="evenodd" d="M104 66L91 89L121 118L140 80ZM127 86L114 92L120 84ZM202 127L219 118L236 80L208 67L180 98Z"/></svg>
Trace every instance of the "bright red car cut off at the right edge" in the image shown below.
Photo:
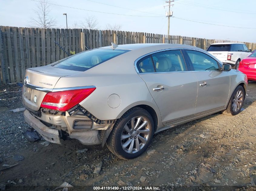
<svg viewBox="0 0 256 191"><path fill-rule="evenodd" d="M256 51L240 62L238 70L247 75L248 81L256 81Z"/></svg>

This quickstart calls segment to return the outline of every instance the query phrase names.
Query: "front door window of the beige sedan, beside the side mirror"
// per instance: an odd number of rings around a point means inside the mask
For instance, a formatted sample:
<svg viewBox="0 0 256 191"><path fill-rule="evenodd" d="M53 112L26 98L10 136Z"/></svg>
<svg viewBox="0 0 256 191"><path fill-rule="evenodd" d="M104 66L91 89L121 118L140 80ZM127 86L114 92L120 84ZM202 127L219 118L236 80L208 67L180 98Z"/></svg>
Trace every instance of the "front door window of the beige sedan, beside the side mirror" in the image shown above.
<svg viewBox="0 0 256 191"><path fill-rule="evenodd" d="M194 67L194 71L214 71L220 69L218 62L207 54L194 50L186 50L186 52Z"/></svg>

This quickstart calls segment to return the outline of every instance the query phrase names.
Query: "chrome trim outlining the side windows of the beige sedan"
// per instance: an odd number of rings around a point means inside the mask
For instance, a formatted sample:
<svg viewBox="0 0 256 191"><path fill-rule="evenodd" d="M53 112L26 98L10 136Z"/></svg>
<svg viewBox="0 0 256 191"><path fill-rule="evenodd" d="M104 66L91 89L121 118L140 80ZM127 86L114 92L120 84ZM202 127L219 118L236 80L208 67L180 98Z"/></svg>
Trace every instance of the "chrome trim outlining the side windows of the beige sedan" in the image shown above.
<svg viewBox="0 0 256 191"><path fill-rule="evenodd" d="M148 55L151 55L151 54L154 54L154 53L165 52L165 51L168 51L168 50L181 50L181 49L182 49L182 50L194 50L194 51L198 51L198 52L204 53L204 54L210 56L210 57L211 57L212 59L214 59L216 62L218 62L218 63L221 64L221 62L220 62L218 59L216 60L216 58L215 58L212 54L208 53L207 51L202 51L202 50L193 49L193 48L171 48L171 49L157 50L157 51L154 51L154 52L151 52L151 53L148 53L148 54L145 54L145 55L139 57L139 58L136 59L135 62L134 62L135 70L136 70L136 72L137 72L138 74L173 73L173 72L144 72L144 73L140 73L139 70L138 70L138 68L137 68L137 62L138 62L140 59L144 58L145 56L148 56ZM194 70L194 71L190 70L190 71L175 71L175 72L214 72L214 71L215 71L215 72L220 72L220 70L199 70L199 71L197 71L197 70Z"/></svg>

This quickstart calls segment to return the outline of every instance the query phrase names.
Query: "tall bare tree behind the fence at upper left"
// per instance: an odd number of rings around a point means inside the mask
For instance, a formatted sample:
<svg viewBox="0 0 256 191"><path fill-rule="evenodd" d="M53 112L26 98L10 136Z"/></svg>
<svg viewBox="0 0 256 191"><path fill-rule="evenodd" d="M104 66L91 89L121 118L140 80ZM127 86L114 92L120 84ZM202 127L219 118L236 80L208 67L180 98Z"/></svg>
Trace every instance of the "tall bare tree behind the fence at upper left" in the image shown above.
<svg viewBox="0 0 256 191"><path fill-rule="evenodd" d="M40 1L37 5L37 9L34 11L37 17L31 18L31 27L53 28L56 26L56 20L49 16L51 9L48 0Z"/></svg>

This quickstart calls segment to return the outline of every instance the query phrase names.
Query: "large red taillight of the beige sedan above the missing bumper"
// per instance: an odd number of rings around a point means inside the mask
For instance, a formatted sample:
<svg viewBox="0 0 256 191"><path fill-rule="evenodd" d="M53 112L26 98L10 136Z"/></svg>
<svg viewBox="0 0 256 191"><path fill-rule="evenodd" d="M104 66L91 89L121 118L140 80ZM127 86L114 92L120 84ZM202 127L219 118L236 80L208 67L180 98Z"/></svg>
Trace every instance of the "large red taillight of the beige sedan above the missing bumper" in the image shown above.
<svg viewBox="0 0 256 191"><path fill-rule="evenodd" d="M88 97L96 88L49 92L45 95L41 107L67 111Z"/></svg>

